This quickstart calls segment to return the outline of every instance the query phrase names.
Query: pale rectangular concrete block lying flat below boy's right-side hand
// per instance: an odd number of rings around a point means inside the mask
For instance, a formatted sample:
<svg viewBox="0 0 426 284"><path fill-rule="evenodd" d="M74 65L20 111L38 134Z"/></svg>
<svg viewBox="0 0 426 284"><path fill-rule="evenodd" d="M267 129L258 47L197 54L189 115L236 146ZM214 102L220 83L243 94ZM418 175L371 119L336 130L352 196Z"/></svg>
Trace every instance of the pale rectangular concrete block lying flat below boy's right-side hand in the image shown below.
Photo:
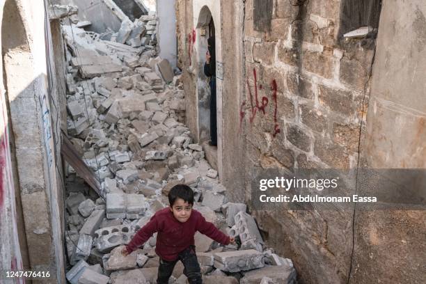
<svg viewBox="0 0 426 284"><path fill-rule="evenodd" d="M214 267L221 269L221 271L247 271L264 266L263 254L253 249L214 253Z"/></svg>

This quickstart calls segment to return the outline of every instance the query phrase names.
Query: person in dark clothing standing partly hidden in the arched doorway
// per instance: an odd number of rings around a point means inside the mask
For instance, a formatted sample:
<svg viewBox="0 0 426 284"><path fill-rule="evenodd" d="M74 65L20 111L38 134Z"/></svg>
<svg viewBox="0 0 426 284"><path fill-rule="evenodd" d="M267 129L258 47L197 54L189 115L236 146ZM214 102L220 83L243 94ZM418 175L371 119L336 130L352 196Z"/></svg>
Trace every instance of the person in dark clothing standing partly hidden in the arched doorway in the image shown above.
<svg viewBox="0 0 426 284"><path fill-rule="evenodd" d="M210 137L209 145L217 146L216 127L216 46L214 37L207 40L208 50L205 54L204 74L210 77Z"/></svg>

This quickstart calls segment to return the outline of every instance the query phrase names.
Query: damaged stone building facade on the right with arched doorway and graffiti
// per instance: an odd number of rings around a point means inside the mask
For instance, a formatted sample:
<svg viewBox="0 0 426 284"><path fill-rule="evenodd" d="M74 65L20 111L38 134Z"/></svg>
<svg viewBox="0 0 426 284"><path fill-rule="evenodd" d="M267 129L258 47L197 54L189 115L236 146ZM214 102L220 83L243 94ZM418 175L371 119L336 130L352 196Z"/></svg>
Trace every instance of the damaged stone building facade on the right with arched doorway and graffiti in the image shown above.
<svg viewBox="0 0 426 284"><path fill-rule="evenodd" d="M251 203L256 167L425 168L426 7L380 2L177 1L187 125L207 148L216 39L219 138L206 157L232 200ZM424 281L424 212L249 210L303 283Z"/></svg>

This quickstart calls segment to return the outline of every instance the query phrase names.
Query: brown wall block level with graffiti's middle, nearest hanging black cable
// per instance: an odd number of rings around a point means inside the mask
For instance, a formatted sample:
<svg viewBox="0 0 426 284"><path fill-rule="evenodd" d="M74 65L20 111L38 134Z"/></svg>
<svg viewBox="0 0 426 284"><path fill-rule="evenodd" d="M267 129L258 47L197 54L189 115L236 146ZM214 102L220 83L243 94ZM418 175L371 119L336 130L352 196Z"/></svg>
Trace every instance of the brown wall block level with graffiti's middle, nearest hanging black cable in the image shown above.
<svg viewBox="0 0 426 284"><path fill-rule="evenodd" d="M355 111L352 93L349 91L319 85L318 100L331 111L344 116L350 116Z"/></svg>

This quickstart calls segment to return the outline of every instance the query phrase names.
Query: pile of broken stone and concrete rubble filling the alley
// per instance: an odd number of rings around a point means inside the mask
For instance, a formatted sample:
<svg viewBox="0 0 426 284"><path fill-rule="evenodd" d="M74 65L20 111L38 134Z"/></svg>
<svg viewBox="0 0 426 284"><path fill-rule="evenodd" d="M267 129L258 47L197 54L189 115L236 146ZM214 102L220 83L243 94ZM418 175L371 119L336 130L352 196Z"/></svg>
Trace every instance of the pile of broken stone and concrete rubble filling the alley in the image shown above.
<svg viewBox="0 0 426 284"><path fill-rule="evenodd" d="M124 21L111 40L63 27L68 134L102 184L97 196L69 166L68 281L155 283L156 235L126 257L120 250L152 214L168 206L168 191L184 183L195 191L194 209L237 239L237 245L221 246L197 233L205 283L295 283L291 260L266 248L246 205L227 202L217 171L183 124L180 74L156 57L155 24L152 16ZM178 262L171 283L186 281Z"/></svg>

